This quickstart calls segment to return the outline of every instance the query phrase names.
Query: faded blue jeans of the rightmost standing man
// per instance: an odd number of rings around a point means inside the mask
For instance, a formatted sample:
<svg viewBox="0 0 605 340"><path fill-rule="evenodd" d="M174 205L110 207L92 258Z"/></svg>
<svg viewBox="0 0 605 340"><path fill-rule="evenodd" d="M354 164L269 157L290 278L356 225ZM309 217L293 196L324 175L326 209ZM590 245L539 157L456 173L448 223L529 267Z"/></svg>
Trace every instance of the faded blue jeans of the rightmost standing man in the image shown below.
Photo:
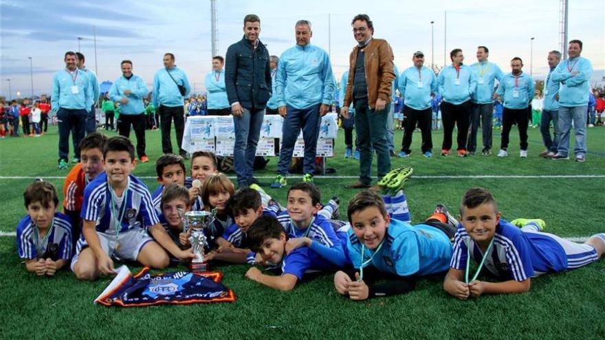
<svg viewBox="0 0 605 340"><path fill-rule="evenodd" d="M559 107L559 131L561 139L559 141L559 155L569 155L569 135L571 132L571 122L573 121L573 130L575 131L575 146L573 152L575 156L586 156L586 110L587 105L582 106L560 106Z"/></svg>

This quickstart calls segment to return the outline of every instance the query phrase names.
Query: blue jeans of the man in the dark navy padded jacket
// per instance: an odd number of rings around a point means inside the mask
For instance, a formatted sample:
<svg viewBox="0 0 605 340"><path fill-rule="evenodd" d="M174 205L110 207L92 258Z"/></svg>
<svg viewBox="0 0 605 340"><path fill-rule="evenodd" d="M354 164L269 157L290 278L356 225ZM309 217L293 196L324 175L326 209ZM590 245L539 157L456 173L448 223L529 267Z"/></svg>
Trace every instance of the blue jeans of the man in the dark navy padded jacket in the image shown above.
<svg viewBox="0 0 605 340"><path fill-rule="evenodd" d="M233 116L235 125L235 146L233 162L237 174L237 183L247 185L254 171L256 145L259 144L261 125L265 117L265 109L253 110L242 108L241 117Z"/></svg>

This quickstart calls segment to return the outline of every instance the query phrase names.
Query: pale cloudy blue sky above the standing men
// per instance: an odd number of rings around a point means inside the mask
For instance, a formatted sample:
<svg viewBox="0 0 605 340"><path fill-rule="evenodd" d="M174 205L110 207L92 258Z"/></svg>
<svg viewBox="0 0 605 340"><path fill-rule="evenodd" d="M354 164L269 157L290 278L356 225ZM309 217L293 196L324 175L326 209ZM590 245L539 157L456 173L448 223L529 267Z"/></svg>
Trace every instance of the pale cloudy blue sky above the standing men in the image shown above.
<svg viewBox="0 0 605 340"><path fill-rule="evenodd" d="M400 71L412 65L412 54L417 50L424 52L425 65L434 60L435 65L442 66L444 51L449 55L458 47L470 65L476 61L476 47L485 45L489 60L503 71L510 71L509 60L519 56L524 60L524 71L529 73L531 68L533 76L540 79L548 71L548 52L560 49L558 0L217 3L219 54L224 56L229 45L242 38L245 14L261 17L261 41L277 56L295 45L294 23L307 19L312 23L311 43L329 52L339 80L349 67L349 53L355 45L351 19L359 13L369 14L374 36L391 44ZM30 71L34 95L50 93L52 76L65 67L65 52L78 50L78 37L83 38L80 52L85 54L87 67L97 70L100 82L113 82L121 75L120 61L129 59L133 72L142 76L151 90L153 74L163 67L162 56L172 52L192 89L199 93L211 70L210 0L0 0L0 95L17 98L19 92L21 98L30 96ZM593 83L601 80L605 76L605 1L569 1L569 39L582 40L582 56L591 60L595 69Z"/></svg>

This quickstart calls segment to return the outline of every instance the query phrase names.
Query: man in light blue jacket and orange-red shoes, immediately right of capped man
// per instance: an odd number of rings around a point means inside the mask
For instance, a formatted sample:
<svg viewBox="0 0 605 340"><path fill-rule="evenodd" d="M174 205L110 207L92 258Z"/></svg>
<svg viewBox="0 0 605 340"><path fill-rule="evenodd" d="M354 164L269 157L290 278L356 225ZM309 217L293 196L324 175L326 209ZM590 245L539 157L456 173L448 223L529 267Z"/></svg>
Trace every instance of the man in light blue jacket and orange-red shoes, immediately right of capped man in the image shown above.
<svg viewBox="0 0 605 340"><path fill-rule="evenodd" d="M441 156L449 156L452 148L454 125L458 126L458 155L467 156L466 139L470 115L470 98L477 87L477 80L472 69L462 65L464 56L461 49L450 52L452 65L443 67L437 77L437 88L443 96L441 117L443 119L443 144Z"/></svg>

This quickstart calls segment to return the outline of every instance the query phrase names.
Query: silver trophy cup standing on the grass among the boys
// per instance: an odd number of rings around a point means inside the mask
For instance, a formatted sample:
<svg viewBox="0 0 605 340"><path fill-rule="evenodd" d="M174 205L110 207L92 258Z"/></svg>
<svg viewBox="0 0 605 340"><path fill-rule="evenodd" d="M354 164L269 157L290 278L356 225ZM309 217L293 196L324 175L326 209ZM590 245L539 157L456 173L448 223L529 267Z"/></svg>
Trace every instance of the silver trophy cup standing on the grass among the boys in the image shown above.
<svg viewBox="0 0 605 340"><path fill-rule="evenodd" d="M214 217L217 215L217 209L213 209L212 212L186 212L184 218L185 232L191 229L191 236L189 236L189 242L191 242L192 251L196 258L191 260L192 271L208 271L208 262L203 259L203 250L206 247L206 234L204 229L212 229L212 223L214 223Z"/></svg>

